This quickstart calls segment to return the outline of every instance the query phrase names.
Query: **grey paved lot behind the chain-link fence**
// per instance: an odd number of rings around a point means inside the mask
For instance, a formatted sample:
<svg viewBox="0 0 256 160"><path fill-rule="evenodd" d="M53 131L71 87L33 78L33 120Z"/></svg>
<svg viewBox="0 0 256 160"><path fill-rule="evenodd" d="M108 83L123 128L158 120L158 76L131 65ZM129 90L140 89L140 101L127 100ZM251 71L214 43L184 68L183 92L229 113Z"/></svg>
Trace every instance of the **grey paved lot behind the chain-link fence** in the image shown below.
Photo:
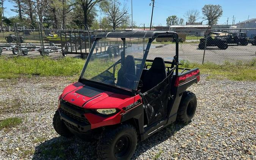
<svg viewBox="0 0 256 160"><path fill-rule="evenodd" d="M204 50L198 49L198 44L180 44L179 45L179 59L188 60L191 62L202 63L203 61ZM13 55L11 50L3 50L2 55L16 56ZM175 45L167 44L152 44L151 49L148 55L148 58L154 58L156 56L162 56L166 60L171 60L175 55ZM40 56L39 52L28 52L29 57ZM49 55L52 58L62 57L61 53L50 53ZM68 55L72 57L79 58L79 55ZM250 61L251 59L256 58L256 46L248 44L247 46L229 46L226 50L220 50L217 47L209 47L204 56L204 62L214 62L214 63L223 63L224 61Z"/></svg>

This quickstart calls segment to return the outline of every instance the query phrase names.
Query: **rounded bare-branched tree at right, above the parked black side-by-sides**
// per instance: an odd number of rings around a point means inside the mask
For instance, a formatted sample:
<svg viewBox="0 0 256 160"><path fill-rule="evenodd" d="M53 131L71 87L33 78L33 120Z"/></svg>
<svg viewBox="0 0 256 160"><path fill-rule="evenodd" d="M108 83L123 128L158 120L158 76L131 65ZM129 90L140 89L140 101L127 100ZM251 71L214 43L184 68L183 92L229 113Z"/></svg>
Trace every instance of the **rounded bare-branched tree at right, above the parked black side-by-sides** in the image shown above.
<svg viewBox="0 0 256 160"><path fill-rule="evenodd" d="M218 19L222 16L222 7L220 5L204 5L202 8L204 15L203 20L208 20L208 25L217 24Z"/></svg>

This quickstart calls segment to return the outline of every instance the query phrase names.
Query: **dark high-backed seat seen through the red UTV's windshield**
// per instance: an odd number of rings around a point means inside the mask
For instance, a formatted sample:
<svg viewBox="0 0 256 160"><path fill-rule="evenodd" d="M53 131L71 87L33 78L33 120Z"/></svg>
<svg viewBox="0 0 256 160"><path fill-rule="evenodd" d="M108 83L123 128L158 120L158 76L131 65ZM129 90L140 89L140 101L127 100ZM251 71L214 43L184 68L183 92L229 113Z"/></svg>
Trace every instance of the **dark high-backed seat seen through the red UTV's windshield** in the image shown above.
<svg viewBox="0 0 256 160"><path fill-rule="evenodd" d="M117 85L129 88L131 84L124 78L125 74L136 76L135 61L132 55L126 56L124 63L117 74Z"/></svg>

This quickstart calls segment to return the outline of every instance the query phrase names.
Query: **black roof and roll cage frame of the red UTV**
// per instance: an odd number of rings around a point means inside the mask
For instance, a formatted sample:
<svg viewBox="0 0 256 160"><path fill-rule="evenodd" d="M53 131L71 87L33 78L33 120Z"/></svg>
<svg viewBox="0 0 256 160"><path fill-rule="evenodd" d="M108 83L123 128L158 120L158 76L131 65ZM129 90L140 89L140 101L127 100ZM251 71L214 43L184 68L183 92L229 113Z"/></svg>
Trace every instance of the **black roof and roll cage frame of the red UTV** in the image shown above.
<svg viewBox="0 0 256 160"><path fill-rule="evenodd" d="M179 73L179 36L176 32L174 31L118 31L118 32L108 32L108 33L101 33L99 35L96 36L96 39L91 47L91 51L88 55L88 58L86 60L85 66L83 67L82 73L80 75L79 81L89 81L92 82L92 80L87 80L82 78L86 67L88 66L89 60L91 58L91 56L93 55L93 49L96 47L96 42L99 41L102 38L121 38L123 41L123 46L126 46L126 38L141 38L141 39L148 39L148 44L146 45L146 49L144 50L144 55L143 55L143 59L137 59L135 58L135 60L141 60L141 66L145 66L146 61L147 62L152 62L153 60L147 60L148 57L148 53L149 53L149 49L151 46L151 43L156 39L156 38L173 38L173 42L176 43L176 50L175 50L175 56L173 58L173 61L164 61L167 64L171 64L171 67L166 67L168 69L168 71L170 71L171 69L175 69L175 75L178 75ZM123 48L123 54L121 54L121 60L117 61L115 64L113 64L112 66L110 66L108 69L110 69L111 67L114 68L115 72L115 66L118 63L123 63L124 59L125 59L125 53L126 53L126 47ZM175 67L174 67L175 66ZM107 69L107 70L108 70ZM143 68L140 68L139 71L139 77L141 77ZM94 81L93 81L94 83ZM97 83L97 82L96 82ZM102 84L99 84L102 85ZM105 84L104 84L105 85ZM112 85L109 85L112 86ZM131 93L135 93L137 92L137 87L136 89L127 89L127 88L122 88L122 87L118 87L118 86L112 86L118 89L122 89L125 91L130 91Z"/></svg>

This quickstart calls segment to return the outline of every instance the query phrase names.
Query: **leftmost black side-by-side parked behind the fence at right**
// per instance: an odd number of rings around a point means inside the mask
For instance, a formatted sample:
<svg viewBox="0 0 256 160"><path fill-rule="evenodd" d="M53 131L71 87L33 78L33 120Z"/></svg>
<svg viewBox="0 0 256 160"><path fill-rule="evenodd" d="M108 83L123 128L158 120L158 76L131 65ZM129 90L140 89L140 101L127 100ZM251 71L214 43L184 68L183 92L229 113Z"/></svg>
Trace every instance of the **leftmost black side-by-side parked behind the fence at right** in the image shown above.
<svg viewBox="0 0 256 160"><path fill-rule="evenodd" d="M206 41L207 38L207 41ZM227 49L228 44L225 38L222 38L219 33L210 32L207 36L200 39L200 43L198 45L199 49L204 49L206 42L206 47L214 47L217 46L219 49Z"/></svg>

